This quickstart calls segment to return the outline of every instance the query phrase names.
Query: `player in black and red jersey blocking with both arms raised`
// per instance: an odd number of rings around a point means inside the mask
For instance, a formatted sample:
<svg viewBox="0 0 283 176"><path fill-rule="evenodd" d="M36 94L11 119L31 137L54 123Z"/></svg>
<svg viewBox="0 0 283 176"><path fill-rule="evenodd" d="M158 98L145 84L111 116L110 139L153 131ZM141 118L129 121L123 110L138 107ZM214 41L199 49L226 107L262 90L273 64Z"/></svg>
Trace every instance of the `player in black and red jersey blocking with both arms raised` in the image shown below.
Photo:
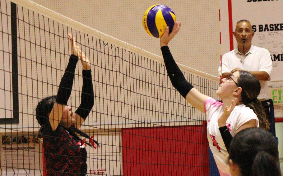
<svg viewBox="0 0 283 176"><path fill-rule="evenodd" d="M71 34L69 39L72 55L61 79L58 94L44 98L36 107L36 119L41 125L39 133L43 137L45 175L86 175L86 142L76 133L90 139L93 147L98 145L92 139L93 136L90 138L78 130L94 105L94 93L90 61L79 49ZM72 108L67 106L67 101L71 95L78 57L83 66L83 85L81 104L73 113Z"/></svg>

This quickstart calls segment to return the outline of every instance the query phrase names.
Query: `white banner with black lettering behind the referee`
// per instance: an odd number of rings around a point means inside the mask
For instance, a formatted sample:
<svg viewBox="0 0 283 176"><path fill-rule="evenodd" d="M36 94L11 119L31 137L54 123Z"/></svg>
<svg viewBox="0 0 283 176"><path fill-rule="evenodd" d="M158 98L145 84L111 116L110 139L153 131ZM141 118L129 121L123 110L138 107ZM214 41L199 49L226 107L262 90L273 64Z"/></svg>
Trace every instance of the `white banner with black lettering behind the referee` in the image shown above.
<svg viewBox="0 0 283 176"><path fill-rule="evenodd" d="M230 3L233 31L237 21L249 20L255 32L253 45L266 48L271 54L271 81L283 81L283 0L237 0ZM234 48L237 47L235 39L233 42Z"/></svg>

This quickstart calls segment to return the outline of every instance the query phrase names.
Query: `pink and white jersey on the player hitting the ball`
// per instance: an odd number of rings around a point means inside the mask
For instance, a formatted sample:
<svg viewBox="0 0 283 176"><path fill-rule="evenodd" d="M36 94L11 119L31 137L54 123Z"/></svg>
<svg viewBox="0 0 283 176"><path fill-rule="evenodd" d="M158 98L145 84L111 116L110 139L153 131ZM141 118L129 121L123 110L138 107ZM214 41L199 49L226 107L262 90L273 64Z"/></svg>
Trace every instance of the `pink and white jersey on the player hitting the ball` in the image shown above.
<svg viewBox="0 0 283 176"><path fill-rule="evenodd" d="M204 103L204 108L207 117L207 139L219 173L221 176L231 175L228 164L229 153L221 137L217 122L218 117L223 113L223 103L209 97ZM234 137L239 127L251 119L256 119L257 127L259 127L257 115L252 109L241 104L231 112L226 121L226 126Z"/></svg>

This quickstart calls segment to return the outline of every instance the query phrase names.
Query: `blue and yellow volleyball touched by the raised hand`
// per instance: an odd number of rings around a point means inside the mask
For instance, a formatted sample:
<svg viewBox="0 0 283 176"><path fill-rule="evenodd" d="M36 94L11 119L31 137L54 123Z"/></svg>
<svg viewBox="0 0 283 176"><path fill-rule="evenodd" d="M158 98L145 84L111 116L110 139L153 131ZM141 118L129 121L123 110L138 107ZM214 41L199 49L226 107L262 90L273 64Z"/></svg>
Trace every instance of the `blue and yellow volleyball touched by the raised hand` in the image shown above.
<svg viewBox="0 0 283 176"><path fill-rule="evenodd" d="M171 33L175 21L176 15L169 7L156 4L146 10L142 24L149 35L160 38L167 26Z"/></svg>

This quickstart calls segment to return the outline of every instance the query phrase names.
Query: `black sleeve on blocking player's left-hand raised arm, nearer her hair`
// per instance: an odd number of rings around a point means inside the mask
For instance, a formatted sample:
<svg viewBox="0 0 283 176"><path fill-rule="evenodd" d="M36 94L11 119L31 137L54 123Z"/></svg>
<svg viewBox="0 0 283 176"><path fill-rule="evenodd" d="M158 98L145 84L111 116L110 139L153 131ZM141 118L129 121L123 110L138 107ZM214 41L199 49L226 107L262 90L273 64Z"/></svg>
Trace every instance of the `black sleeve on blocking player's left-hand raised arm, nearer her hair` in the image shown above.
<svg viewBox="0 0 283 176"><path fill-rule="evenodd" d="M72 92L72 86L75 76L75 69L79 58L76 55L71 55L65 73L61 79L56 102L67 105L68 99Z"/></svg>

